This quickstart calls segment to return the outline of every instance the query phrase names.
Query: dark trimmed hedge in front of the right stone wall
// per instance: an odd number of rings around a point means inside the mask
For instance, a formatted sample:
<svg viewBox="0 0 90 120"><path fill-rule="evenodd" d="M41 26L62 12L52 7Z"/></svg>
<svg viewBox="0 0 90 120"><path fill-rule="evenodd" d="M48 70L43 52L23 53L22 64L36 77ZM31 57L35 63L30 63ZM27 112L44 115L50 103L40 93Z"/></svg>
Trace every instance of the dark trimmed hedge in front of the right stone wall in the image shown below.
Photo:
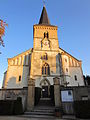
<svg viewBox="0 0 90 120"><path fill-rule="evenodd" d="M90 100L74 101L74 111L77 118L90 118Z"/></svg>

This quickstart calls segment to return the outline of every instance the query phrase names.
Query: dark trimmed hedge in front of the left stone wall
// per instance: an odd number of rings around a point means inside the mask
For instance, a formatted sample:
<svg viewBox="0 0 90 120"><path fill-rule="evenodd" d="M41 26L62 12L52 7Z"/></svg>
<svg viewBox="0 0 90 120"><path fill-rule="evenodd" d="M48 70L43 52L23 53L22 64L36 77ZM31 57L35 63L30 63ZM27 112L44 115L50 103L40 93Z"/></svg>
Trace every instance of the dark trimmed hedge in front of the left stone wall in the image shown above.
<svg viewBox="0 0 90 120"><path fill-rule="evenodd" d="M0 115L19 115L23 114L21 99L0 100Z"/></svg>

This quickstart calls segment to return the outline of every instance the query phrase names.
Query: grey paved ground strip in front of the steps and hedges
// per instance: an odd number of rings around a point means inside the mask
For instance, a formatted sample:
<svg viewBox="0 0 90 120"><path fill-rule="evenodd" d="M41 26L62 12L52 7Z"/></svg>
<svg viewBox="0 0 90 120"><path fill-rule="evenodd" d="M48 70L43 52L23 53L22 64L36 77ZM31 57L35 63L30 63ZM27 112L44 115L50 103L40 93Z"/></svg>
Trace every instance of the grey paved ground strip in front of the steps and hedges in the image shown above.
<svg viewBox="0 0 90 120"><path fill-rule="evenodd" d="M75 119L74 116L63 116L64 118L25 118L22 116L0 116L0 120L85 120L85 119ZM90 119L87 119L90 120Z"/></svg>

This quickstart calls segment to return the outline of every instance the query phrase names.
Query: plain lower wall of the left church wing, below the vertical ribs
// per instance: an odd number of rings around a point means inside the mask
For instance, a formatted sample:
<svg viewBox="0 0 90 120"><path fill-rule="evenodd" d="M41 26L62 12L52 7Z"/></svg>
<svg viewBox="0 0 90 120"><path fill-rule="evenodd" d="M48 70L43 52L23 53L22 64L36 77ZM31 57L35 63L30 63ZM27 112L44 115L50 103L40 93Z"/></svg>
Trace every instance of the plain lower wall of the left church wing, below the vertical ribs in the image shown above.
<svg viewBox="0 0 90 120"><path fill-rule="evenodd" d="M7 71L7 88L23 88L27 87L27 79L29 74L29 66L9 66ZM19 80L21 76L21 80Z"/></svg>

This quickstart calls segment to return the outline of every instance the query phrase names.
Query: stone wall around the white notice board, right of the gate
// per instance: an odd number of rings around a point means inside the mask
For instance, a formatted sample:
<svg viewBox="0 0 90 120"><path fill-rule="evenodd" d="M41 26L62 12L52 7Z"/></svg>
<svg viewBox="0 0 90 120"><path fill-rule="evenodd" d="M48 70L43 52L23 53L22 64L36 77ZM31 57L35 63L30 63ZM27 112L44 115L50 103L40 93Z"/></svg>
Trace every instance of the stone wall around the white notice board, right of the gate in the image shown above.
<svg viewBox="0 0 90 120"><path fill-rule="evenodd" d="M74 114L73 103L78 100L90 100L90 86L79 87L64 87L61 91L72 91L72 101L62 101L62 108L64 114Z"/></svg>

